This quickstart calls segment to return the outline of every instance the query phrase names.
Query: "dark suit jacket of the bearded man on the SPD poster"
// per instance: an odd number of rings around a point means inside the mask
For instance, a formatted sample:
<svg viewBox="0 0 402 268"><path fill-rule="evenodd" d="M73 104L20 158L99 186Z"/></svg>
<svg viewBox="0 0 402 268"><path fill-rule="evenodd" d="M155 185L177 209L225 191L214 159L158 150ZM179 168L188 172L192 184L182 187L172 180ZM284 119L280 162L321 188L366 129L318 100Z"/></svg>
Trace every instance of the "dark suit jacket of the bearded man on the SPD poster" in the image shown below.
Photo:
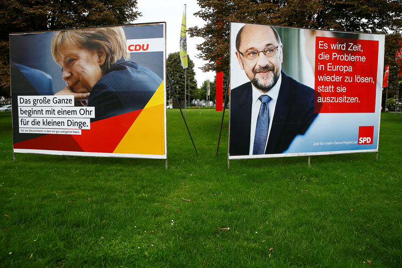
<svg viewBox="0 0 402 268"><path fill-rule="evenodd" d="M317 115L314 113L314 90L287 76L282 71L282 83L269 133L265 154L282 153L297 134L305 134ZM229 155L249 155L251 82L230 92L230 147Z"/></svg>

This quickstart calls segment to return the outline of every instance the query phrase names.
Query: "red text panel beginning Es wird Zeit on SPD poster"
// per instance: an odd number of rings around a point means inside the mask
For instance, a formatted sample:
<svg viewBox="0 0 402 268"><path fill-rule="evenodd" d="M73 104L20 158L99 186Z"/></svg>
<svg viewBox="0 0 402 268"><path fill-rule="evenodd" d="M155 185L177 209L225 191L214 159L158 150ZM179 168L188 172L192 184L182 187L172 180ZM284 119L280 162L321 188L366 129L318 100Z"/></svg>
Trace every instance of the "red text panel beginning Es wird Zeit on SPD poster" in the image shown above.
<svg viewBox="0 0 402 268"><path fill-rule="evenodd" d="M316 37L315 108L374 113L378 41Z"/></svg>

